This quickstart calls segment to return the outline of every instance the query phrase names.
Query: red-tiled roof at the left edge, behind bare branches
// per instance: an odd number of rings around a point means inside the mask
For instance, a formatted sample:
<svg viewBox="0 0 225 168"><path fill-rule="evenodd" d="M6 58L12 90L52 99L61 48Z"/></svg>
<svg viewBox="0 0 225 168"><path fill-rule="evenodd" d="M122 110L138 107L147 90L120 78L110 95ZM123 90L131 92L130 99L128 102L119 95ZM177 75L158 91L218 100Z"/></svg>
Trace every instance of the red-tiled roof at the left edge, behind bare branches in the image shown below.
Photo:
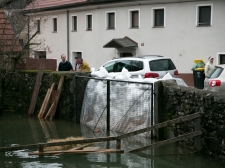
<svg viewBox="0 0 225 168"><path fill-rule="evenodd" d="M18 52L21 50L5 12L0 9L0 52Z"/></svg>

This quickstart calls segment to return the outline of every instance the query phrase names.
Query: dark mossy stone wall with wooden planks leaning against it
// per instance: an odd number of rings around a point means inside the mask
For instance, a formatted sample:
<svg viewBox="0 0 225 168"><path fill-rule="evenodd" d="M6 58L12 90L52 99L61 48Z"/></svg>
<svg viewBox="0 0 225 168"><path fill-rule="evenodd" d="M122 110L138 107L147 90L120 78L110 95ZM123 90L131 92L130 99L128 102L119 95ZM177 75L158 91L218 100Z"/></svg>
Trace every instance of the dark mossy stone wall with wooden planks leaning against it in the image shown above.
<svg viewBox="0 0 225 168"><path fill-rule="evenodd" d="M13 112L28 114L28 109L36 81L37 71L24 71L8 73L0 82L0 112ZM64 84L59 99L56 118L75 119L76 112L76 87L75 83L82 83L79 89L85 91L85 82L76 81L77 76L90 76L90 73L69 72L44 72L38 93L38 99L32 116L36 117L39 113L47 90L55 83L54 90L57 90L60 76L64 76ZM78 104L82 104L83 95L78 97ZM80 107L81 108L81 107ZM78 110L80 110L78 108Z"/></svg>

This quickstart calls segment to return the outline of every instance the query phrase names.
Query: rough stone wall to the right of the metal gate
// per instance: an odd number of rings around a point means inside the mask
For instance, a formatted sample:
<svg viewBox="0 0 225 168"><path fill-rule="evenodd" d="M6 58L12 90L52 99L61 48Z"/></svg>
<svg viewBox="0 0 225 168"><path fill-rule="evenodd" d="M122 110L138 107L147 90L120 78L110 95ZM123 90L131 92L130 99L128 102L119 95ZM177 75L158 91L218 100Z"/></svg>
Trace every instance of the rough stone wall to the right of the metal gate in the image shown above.
<svg viewBox="0 0 225 168"><path fill-rule="evenodd" d="M177 86L173 81L159 82L159 122L200 112L202 114L202 150L225 160L225 94L204 91L193 87ZM174 126L176 135L189 132L193 122ZM194 141L183 142L192 145Z"/></svg>

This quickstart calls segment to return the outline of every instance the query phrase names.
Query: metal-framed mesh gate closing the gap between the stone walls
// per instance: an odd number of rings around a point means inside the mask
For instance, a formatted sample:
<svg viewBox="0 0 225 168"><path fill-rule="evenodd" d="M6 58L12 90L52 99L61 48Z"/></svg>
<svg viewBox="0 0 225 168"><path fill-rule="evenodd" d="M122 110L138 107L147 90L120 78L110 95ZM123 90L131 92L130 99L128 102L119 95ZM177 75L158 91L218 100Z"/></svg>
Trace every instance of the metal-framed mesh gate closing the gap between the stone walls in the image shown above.
<svg viewBox="0 0 225 168"><path fill-rule="evenodd" d="M152 83L77 76L76 100L83 94L81 80L87 82L82 106L76 101L81 123L121 133L153 125Z"/></svg>

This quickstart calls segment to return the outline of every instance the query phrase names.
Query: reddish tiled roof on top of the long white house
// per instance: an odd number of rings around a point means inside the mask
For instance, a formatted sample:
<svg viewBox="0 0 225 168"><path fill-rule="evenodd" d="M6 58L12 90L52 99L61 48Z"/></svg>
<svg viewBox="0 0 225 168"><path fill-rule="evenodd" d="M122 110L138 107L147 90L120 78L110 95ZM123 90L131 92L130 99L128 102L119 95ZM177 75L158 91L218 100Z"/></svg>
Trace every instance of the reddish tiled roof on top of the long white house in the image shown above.
<svg viewBox="0 0 225 168"><path fill-rule="evenodd" d="M25 10L56 8L66 5L78 4L86 1L87 0L34 0L25 8Z"/></svg>

